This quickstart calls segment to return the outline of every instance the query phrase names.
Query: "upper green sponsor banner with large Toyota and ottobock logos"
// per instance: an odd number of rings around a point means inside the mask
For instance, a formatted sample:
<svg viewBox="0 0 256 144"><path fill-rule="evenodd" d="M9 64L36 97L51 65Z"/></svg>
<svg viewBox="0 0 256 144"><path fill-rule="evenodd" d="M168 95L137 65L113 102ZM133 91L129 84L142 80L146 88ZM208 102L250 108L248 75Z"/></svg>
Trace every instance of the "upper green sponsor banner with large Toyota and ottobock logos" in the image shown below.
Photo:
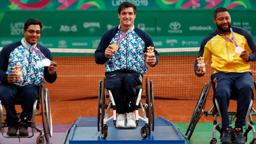
<svg viewBox="0 0 256 144"><path fill-rule="evenodd" d="M232 26L247 29L256 35L256 11L232 11ZM119 25L117 12L0 12L0 37L23 36L24 22L29 18L42 20L42 36L102 36L108 29ZM49 17L51 15L51 17ZM186 15L186 18L184 18ZM142 11L134 26L151 36L207 36L216 29L212 11ZM12 18L12 19L10 19ZM203 18L203 20L202 20Z"/></svg>

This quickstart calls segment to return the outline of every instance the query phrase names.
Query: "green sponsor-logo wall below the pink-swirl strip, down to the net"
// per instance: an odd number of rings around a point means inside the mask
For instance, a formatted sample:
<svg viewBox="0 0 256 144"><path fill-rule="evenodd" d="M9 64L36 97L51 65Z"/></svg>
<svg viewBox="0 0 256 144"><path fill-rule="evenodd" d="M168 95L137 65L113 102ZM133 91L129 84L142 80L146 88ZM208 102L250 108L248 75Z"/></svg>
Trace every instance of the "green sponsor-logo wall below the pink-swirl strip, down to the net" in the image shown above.
<svg viewBox="0 0 256 144"><path fill-rule="evenodd" d="M199 47L216 29L214 10L159 10L137 12L135 23L148 32L157 48ZM232 26L256 36L256 10L230 10ZM116 11L0 12L0 47L23 37L29 18L43 21L40 43L49 48L97 48L102 34L119 24Z"/></svg>

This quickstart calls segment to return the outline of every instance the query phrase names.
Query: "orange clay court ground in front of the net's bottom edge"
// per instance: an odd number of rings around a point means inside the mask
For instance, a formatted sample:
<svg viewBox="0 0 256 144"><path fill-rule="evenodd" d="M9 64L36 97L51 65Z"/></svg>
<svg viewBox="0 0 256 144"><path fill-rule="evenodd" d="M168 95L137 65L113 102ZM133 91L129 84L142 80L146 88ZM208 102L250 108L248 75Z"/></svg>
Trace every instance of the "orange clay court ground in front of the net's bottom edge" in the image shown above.
<svg viewBox="0 0 256 144"><path fill-rule="evenodd" d="M173 123L188 123L197 100L154 99L155 116L161 115ZM98 99L51 101L52 123L71 124L79 116L97 116ZM212 100L207 100L205 110L212 107ZM256 107L256 104L253 104ZM16 106L20 111L20 106ZM231 100L229 111L236 111L236 101ZM199 122L212 122L213 116L202 116ZM42 118L36 116L36 124L42 124Z"/></svg>

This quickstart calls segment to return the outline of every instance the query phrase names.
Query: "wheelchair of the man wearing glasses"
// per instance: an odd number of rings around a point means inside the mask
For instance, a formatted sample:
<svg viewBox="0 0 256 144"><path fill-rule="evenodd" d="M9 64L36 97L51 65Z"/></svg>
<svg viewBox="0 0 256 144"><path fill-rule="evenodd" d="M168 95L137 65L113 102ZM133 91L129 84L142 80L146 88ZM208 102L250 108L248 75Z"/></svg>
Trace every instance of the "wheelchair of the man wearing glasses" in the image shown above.
<svg viewBox="0 0 256 144"><path fill-rule="evenodd" d="M15 98L15 105L21 105L21 100ZM39 110L41 105L41 112L36 112L36 109ZM35 129L37 132L40 132L39 136L36 139L37 144L43 144L44 138L48 142L49 138L52 137L52 115L51 115L51 105L48 89L44 89L44 86L41 85L39 89L39 95L36 97L36 100L33 105L32 120L28 122L28 127L32 128L32 134L28 136L7 136L4 134L4 127L8 125L4 122L4 116L6 113L3 113L3 106L0 100L0 132L5 138L31 138L34 136ZM20 113L17 113L17 116L20 116ZM42 116L43 128L36 126L35 117Z"/></svg>

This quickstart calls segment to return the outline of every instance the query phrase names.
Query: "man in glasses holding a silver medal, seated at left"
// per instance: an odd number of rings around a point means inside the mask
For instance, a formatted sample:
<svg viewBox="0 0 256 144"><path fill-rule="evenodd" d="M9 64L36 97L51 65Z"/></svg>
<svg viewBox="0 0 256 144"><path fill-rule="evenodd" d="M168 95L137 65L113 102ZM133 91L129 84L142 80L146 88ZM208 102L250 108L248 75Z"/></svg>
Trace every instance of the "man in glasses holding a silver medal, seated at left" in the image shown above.
<svg viewBox="0 0 256 144"><path fill-rule="evenodd" d="M32 118L39 87L44 84L44 78L49 83L57 78L57 63L52 61L50 50L37 43L42 27L40 20L27 20L24 38L4 46L0 52L0 100L6 109L9 136L16 136L18 128L20 136L28 136L27 122ZM15 110L16 97L21 99L20 118Z"/></svg>

